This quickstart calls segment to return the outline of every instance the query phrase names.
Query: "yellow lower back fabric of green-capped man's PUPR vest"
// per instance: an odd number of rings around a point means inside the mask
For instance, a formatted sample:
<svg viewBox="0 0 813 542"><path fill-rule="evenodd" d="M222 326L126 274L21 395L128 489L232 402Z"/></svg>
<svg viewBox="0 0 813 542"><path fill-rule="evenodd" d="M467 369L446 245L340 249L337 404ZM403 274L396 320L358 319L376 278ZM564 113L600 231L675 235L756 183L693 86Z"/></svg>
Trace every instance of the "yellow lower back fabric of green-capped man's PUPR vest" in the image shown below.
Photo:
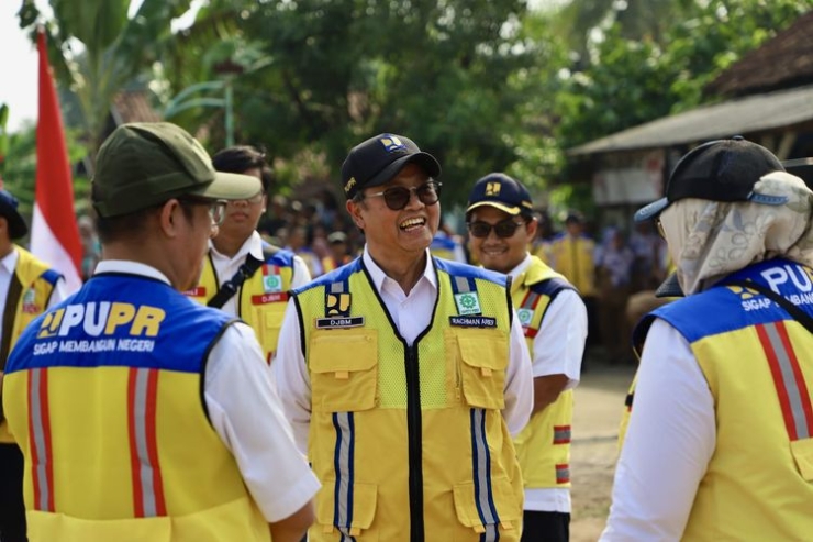
<svg viewBox="0 0 813 542"><path fill-rule="evenodd" d="M129 367L47 369L54 512L37 510L34 500L27 407L15 409L10 417L26 460L23 484L29 539L270 541L268 523L204 414L197 373L158 373L156 439L167 516L134 517L129 372ZM29 405L29 375L21 370L5 376L9 403ZM100 411L99 405L105 409ZM89 493L85 487L109 490Z"/></svg>

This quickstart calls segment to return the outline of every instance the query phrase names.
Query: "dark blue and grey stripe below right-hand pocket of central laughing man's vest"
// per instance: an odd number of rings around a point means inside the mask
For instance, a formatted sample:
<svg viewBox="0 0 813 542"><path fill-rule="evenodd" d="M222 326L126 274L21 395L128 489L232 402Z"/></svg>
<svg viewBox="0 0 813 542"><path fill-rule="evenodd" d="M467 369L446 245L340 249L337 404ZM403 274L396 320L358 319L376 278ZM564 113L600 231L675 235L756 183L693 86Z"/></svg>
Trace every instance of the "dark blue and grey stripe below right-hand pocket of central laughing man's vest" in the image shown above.
<svg viewBox="0 0 813 542"><path fill-rule="evenodd" d="M486 439L486 411L483 409L471 409L471 435L475 502L486 530L480 537L480 542L494 542L498 540L497 524L500 518L497 515L491 493L491 454Z"/></svg>

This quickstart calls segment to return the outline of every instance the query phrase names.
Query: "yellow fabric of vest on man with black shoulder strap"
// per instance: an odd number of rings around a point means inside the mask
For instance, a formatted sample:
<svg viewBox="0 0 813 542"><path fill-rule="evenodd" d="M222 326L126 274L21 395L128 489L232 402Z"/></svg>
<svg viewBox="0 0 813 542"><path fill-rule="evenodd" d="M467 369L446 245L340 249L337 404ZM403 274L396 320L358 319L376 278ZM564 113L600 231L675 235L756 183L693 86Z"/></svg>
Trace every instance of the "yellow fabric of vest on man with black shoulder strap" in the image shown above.
<svg viewBox="0 0 813 542"><path fill-rule="evenodd" d="M243 283L237 297L237 316L243 319L254 330L257 335L263 354L267 362L270 363L274 354L277 352L279 342L279 330L282 327L285 317L287 292L291 289L293 278L292 267L279 267L280 278L282 279L281 292L265 294L263 289L263 268L257 269L252 277ZM232 277L226 277L230 279ZM192 290L189 296L201 305L207 305L214 297L220 288L220 283L214 275L214 266L211 257L203 262L203 273L200 277L200 284ZM271 302L261 302L265 299L274 299ZM279 298L279 300L276 300Z"/></svg>

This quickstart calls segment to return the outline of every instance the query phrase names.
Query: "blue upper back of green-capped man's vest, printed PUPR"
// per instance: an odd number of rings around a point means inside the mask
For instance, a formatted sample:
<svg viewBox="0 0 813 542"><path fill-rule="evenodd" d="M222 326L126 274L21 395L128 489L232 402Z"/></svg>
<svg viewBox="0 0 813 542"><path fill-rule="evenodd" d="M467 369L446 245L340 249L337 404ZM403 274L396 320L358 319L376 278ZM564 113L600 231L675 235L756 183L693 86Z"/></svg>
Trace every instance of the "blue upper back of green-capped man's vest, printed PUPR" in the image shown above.
<svg viewBox="0 0 813 542"><path fill-rule="evenodd" d="M159 280L97 275L23 331L5 370L110 366L198 373L232 319Z"/></svg>

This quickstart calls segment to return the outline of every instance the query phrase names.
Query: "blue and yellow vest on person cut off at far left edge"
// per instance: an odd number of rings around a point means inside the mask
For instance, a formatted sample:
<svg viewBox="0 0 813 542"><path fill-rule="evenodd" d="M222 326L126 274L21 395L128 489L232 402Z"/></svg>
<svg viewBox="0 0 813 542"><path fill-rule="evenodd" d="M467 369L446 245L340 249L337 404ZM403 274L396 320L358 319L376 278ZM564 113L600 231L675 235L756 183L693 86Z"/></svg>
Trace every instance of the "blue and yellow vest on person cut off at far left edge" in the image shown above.
<svg viewBox="0 0 813 542"><path fill-rule="evenodd" d="M10 322L11 325L3 328L3 338L8 338L8 350L0 353L0 370L4 370L5 360L9 352L16 343L23 330L40 314L45 312L51 301L51 295L54 292L56 281L62 277L48 265L34 257L29 251L14 245L18 253L16 267L14 276L11 277L12 284L9 287L9 298L5 302L5 313L13 311L12 320L3 316L3 322ZM14 285L16 283L16 286ZM19 288L19 289L18 289ZM12 299L12 292L18 291L19 296ZM5 339L3 339L5 342ZM0 419L0 443L11 443L14 440L9 434L9 428L4 417Z"/></svg>

